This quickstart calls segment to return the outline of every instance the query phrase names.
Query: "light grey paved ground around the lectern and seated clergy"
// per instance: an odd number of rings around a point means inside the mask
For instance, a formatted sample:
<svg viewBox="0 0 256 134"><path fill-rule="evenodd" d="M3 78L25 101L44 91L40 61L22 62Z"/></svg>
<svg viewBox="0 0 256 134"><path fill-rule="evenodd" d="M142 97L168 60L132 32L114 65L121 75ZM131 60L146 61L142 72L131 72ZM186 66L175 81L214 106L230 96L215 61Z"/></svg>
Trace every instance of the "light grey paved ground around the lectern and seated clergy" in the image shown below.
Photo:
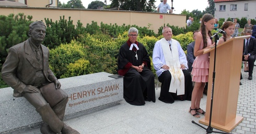
<svg viewBox="0 0 256 134"><path fill-rule="evenodd" d="M243 79L240 86L237 114L243 116L243 121L231 133L256 133L256 75L253 71L252 81L248 80L248 73L242 72ZM156 98L160 88L156 89ZM206 96L202 98L201 108L205 110ZM167 104L157 99L156 103L146 102L143 106L134 106L124 100L107 109L86 114L64 122L80 133L206 133L203 128L192 124L199 119L189 114L190 101L176 101ZM204 126L204 125L203 125ZM207 126L205 126L207 128ZM214 131L219 131L214 129ZM36 128L26 132L40 133Z"/></svg>

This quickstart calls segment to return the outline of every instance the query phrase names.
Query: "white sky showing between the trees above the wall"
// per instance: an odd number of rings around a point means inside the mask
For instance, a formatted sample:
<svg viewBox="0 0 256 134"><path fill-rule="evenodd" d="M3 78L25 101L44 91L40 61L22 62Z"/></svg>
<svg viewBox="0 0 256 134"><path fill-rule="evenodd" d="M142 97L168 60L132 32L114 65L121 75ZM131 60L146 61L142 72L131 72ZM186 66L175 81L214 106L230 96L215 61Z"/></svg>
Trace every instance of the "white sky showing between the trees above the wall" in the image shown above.
<svg viewBox="0 0 256 134"><path fill-rule="evenodd" d="M67 3L70 0L59 0L61 3ZM88 5L97 0L81 0L83 3L83 6L85 8L88 7ZM101 2L104 2L104 0L99 0ZM155 6L157 7L160 4L160 0L156 0ZM167 3L171 7L171 0L168 0ZM110 5L111 2L107 0L107 5ZM205 8L208 6L208 1L207 0L173 0L172 6L174 7L173 14L180 14L181 11L186 9L187 11L192 11L192 10L200 10L203 11Z"/></svg>

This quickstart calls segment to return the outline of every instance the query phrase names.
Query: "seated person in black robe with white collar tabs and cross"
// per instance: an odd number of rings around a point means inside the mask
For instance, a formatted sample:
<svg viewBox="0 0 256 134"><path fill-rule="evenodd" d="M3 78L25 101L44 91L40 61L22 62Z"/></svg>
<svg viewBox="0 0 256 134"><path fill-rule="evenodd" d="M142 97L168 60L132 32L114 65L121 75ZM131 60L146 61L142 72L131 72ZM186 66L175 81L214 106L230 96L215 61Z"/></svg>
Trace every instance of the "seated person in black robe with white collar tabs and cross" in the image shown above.
<svg viewBox="0 0 256 134"><path fill-rule="evenodd" d="M155 102L155 75L150 71L148 52L136 41L136 28L128 33L129 39L121 46L118 56L118 74L124 76L124 99L132 105Z"/></svg>

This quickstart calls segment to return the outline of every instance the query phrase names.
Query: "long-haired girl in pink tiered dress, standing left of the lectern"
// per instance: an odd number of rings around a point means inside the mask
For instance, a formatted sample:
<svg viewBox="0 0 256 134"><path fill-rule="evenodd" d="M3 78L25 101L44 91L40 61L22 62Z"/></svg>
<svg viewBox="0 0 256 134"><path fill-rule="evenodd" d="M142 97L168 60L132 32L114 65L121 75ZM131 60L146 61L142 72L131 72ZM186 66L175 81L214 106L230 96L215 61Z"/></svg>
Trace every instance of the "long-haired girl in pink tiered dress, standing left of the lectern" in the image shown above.
<svg viewBox="0 0 256 134"><path fill-rule="evenodd" d="M200 32L195 38L194 56L196 57L193 63L193 69L191 74L192 81L195 82L192 92L191 106L189 113L193 117L199 118L200 115L205 115L205 112L200 109L200 101L203 94L205 83L208 82L209 75L209 53L205 53L204 49L214 47L212 39L210 39L214 28L215 19L211 14L205 14L202 18Z"/></svg>

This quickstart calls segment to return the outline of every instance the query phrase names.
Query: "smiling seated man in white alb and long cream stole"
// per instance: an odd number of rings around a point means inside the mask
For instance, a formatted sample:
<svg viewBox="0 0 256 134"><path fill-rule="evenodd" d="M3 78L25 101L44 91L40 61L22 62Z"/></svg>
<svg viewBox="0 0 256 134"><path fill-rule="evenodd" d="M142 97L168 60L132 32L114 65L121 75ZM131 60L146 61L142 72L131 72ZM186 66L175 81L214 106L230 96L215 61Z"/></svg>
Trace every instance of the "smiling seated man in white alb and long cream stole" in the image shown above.
<svg viewBox="0 0 256 134"><path fill-rule="evenodd" d="M188 62L180 43L172 39L168 26L162 29L164 38L156 42L153 50L153 65L161 83L160 101L173 103L174 100L191 100L192 79Z"/></svg>

